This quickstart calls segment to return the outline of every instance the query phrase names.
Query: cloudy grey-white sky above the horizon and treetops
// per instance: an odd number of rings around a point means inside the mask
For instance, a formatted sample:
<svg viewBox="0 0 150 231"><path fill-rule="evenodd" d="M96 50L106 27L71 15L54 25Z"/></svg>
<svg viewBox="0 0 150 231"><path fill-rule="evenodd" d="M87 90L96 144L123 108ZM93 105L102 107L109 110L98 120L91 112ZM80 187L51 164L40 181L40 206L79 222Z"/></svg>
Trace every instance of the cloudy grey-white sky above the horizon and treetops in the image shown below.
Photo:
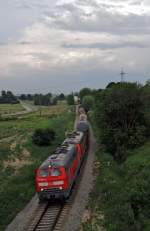
<svg viewBox="0 0 150 231"><path fill-rule="evenodd" d="M150 0L0 0L0 90L150 78Z"/></svg>

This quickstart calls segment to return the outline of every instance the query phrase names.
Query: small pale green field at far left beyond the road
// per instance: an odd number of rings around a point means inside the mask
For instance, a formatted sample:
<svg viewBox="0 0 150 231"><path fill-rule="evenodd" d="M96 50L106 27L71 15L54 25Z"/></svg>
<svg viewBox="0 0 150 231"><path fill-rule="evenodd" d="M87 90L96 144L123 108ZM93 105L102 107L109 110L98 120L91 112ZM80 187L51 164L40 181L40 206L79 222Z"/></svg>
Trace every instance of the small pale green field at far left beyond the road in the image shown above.
<svg viewBox="0 0 150 231"><path fill-rule="evenodd" d="M0 114L11 114L24 111L20 103L18 104L0 104Z"/></svg>

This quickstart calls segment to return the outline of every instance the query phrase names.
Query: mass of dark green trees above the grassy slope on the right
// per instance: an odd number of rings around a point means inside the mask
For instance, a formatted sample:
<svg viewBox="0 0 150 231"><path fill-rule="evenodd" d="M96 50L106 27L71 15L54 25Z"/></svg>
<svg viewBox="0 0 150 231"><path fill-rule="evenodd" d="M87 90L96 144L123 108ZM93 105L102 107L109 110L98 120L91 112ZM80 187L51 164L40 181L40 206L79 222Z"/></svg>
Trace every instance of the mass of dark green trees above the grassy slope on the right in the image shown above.
<svg viewBox="0 0 150 231"><path fill-rule="evenodd" d="M82 105L94 111L99 141L113 158L122 162L127 150L150 137L150 83L109 83L106 89L83 88Z"/></svg>

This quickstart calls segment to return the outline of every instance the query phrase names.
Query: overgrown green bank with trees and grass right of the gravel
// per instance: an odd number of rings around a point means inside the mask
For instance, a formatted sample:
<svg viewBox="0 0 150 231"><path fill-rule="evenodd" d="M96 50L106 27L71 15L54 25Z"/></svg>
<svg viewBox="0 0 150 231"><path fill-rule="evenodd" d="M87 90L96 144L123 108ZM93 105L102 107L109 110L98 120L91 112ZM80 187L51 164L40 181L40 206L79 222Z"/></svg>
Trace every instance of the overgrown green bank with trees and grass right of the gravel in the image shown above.
<svg viewBox="0 0 150 231"><path fill-rule="evenodd" d="M149 85L116 83L95 96L96 181L82 230L150 230Z"/></svg>

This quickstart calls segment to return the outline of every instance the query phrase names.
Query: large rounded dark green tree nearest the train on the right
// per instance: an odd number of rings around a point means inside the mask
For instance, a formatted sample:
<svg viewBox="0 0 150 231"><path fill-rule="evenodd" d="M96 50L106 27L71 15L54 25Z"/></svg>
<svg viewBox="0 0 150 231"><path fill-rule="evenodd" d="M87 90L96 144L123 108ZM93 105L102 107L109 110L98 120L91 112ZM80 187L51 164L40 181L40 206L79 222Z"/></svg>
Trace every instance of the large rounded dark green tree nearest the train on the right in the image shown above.
<svg viewBox="0 0 150 231"><path fill-rule="evenodd" d="M120 83L96 97L95 119L106 150L118 161L126 159L126 150L145 141L146 126L142 110L141 87Z"/></svg>

